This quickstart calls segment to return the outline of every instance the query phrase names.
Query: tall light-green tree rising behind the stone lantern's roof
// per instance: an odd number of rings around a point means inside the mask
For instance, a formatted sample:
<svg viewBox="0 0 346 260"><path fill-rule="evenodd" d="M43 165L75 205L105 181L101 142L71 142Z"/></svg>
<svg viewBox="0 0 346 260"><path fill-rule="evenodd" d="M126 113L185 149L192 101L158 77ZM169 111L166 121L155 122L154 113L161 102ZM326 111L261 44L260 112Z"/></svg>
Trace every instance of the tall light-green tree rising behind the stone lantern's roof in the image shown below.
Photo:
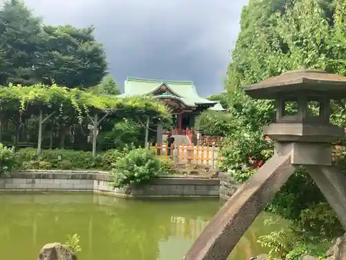
<svg viewBox="0 0 346 260"><path fill-rule="evenodd" d="M243 86L302 65L345 75L345 17L345 0L251 0L243 8L226 81L228 110L236 126L232 144L234 139L241 144L250 133L262 139L262 126L274 117L273 101L255 101ZM346 125L345 102L334 103L332 109L334 123ZM242 160L260 152L256 144L247 148ZM227 164L239 162L238 155L228 154Z"/></svg>

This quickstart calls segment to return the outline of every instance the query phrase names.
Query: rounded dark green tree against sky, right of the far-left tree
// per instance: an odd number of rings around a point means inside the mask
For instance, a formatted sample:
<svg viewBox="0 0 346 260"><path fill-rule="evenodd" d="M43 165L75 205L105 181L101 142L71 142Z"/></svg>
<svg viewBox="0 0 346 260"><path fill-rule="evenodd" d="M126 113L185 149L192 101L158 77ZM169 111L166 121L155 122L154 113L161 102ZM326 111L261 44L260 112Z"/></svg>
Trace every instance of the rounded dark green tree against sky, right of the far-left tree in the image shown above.
<svg viewBox="0 0 346 260"><path fill-rule="evenodd" d="M39 68L44 84L75 88L100 83L107 74L107 62L93 31L93 26L44 26L46 51Z"/></svg>

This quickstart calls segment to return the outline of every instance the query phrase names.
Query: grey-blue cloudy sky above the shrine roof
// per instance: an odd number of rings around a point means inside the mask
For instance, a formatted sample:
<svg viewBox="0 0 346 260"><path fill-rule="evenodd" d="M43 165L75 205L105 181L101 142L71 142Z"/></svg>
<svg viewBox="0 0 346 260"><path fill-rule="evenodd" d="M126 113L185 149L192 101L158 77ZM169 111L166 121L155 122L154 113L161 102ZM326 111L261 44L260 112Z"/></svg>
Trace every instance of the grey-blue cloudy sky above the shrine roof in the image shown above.
<svg viewBox="0 0 346 260"><path fill-rule="evenodd" d="M201 96L223 90L223 77L248 0L26 0L46 24L94 25L109 71L193 80ZM222 73L222 75L221 75Z"/></svg>

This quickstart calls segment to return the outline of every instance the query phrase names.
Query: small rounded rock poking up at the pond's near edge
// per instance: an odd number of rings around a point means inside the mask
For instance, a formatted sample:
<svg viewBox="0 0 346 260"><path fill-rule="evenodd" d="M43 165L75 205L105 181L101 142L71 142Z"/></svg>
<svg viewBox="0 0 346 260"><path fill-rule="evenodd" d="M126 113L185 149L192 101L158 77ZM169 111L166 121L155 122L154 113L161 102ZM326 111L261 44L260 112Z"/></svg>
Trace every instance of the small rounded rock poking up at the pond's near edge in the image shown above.
<svg viewBox="0 0 346 260"><path fill-rule="evenodd" d="M49 243L39 252L37 260L78 260L75 254L61 243Z"/></svg>

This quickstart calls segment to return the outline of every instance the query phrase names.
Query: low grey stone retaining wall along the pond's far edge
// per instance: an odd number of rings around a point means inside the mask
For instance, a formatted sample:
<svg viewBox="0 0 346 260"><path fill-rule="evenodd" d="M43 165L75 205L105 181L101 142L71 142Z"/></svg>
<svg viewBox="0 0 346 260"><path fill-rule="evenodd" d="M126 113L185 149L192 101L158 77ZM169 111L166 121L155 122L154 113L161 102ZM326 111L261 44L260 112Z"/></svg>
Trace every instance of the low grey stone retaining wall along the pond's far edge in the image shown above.
<svg viewBox="0 0 346 260"><path fill-rule="evenodd" d="M219 198L219 180L158 177L140 187L114 189L112 176L99 171L28 171L0 178L0 191L88 191L113 196Z"/></svg>

